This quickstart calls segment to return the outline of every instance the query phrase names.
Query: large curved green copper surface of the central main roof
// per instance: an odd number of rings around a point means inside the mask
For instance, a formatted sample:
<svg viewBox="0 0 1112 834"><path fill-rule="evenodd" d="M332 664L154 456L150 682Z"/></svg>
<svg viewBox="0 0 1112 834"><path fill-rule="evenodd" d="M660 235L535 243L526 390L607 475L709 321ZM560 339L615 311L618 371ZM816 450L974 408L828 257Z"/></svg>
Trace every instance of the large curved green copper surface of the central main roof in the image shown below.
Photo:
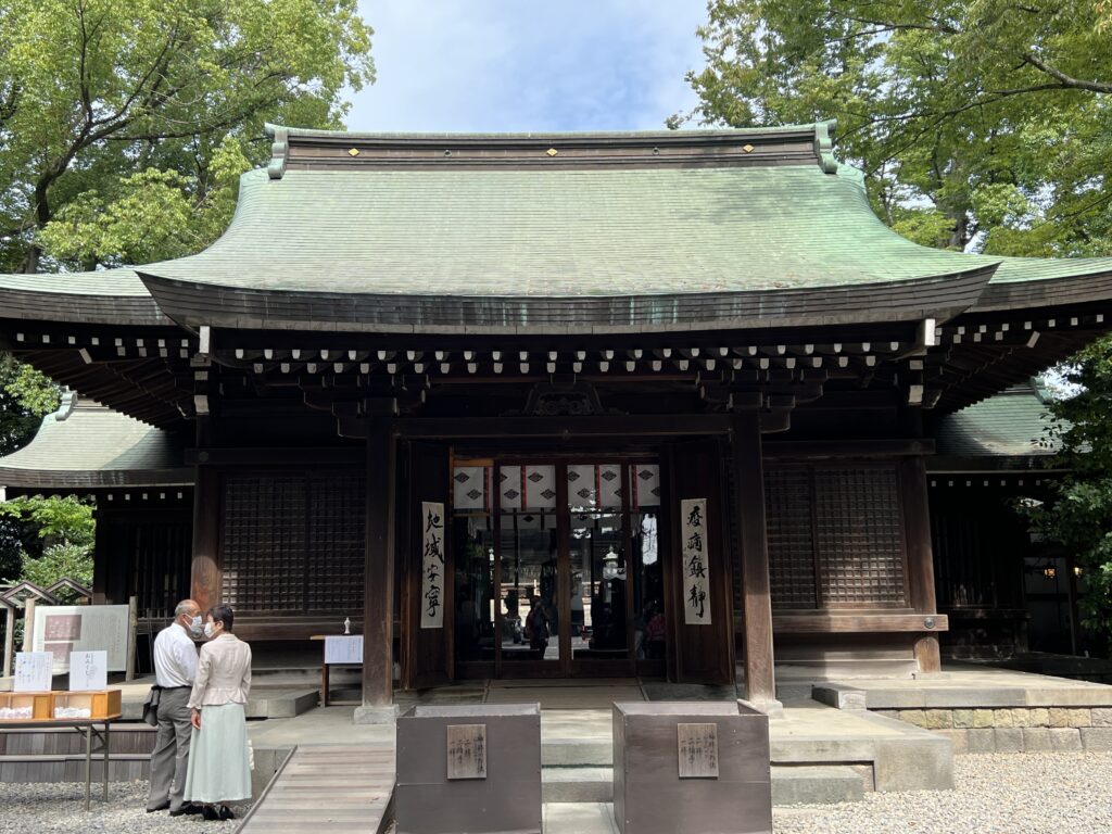
<svg viewBox="0 0 1112 834"><path fill-rule="evenodd" d="M252 171L227 234L141 271L224 287L455 297L783 290L997 259L915 246L817 165Z"/></svg>

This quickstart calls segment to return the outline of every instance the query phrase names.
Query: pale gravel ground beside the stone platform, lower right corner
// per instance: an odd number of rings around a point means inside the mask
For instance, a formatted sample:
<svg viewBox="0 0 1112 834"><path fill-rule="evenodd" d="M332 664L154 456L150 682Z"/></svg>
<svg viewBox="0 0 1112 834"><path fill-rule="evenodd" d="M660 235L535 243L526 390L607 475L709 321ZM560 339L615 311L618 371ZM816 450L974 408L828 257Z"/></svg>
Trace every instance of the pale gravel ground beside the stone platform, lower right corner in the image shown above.
<svg viewBox="0 0 1112 834"><path fill-rule="evenodd" d="M954 757L953 791L775 808L776 834L1108 834L1112 753Z"/></svg>

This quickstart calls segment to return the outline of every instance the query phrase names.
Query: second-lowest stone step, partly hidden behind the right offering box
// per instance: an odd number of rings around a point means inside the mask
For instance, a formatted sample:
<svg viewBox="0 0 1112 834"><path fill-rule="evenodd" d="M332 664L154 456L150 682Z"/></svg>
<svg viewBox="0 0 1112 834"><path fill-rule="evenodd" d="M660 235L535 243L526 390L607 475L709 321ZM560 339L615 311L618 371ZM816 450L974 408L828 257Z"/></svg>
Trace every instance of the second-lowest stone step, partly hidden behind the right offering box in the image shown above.
<svg viewBox="0 0 1112 834"><path fill-rule="evenodd" d="M773 805L828 805L860 802L865 780L850 765L774 765ZM546 803L614 802L612 767L550 767L540 772Z"/></svg>

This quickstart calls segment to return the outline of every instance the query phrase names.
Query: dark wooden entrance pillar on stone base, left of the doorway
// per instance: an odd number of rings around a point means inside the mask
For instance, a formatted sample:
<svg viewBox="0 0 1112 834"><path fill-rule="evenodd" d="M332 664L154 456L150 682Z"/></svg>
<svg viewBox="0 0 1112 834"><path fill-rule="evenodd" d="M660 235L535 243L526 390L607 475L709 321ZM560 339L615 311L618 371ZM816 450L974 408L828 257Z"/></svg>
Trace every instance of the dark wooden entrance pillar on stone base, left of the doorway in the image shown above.
<svg viewBox="0 0 1112 834"><path fill-rule="evenodd" d="M394 421L367 426L367 550L364 578L363 708L356 721L394 708L394 537L397 443Z"/></svg>

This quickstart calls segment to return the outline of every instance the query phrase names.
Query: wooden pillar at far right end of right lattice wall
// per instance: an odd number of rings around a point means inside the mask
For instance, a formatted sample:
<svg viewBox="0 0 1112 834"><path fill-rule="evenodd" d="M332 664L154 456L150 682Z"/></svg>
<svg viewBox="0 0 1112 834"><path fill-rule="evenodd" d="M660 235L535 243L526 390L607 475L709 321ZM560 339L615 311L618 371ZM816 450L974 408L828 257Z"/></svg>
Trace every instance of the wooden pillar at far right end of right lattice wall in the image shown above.
<svg viewBox="0 0 1112 834"><path fill-rule="evenodd" d="M926 466L914 457L900 465L904 530L907 537L907 592L917 614L937 614L934 596L934 550L931 547L931 507L926 493ZM939 638L924 634L915 641L920 672L941 672Z"/></svg>

